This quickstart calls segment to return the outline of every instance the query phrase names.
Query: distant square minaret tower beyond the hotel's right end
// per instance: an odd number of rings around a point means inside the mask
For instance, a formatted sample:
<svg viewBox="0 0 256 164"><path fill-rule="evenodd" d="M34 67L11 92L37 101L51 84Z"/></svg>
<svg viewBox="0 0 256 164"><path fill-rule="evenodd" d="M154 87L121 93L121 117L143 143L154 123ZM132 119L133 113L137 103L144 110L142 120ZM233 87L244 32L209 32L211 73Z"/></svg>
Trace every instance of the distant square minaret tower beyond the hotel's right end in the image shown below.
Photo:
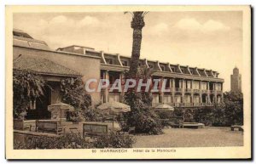
<svg viewBox="0 0 256 164"><path fill-rule="evenodd" d="M233 75L230 76L230 80L231 92L241 93L241 74L239 74L237 67L233 69Z"/></svg>

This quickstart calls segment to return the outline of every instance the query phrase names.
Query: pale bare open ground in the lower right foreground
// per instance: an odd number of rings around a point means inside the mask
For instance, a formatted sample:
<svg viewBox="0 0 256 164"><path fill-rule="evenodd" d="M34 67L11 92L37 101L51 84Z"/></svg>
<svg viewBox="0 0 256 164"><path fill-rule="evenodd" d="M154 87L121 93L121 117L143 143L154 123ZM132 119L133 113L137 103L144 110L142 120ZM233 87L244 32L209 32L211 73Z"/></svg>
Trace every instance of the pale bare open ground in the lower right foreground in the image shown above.
<svg viewBox="0 0 256 164"><path fill-rule="evenodd" d="M166 128L161 135L139 136L134 148L218 147L242 146L243 133L230 131L230 127L201 129Z"/></svg>

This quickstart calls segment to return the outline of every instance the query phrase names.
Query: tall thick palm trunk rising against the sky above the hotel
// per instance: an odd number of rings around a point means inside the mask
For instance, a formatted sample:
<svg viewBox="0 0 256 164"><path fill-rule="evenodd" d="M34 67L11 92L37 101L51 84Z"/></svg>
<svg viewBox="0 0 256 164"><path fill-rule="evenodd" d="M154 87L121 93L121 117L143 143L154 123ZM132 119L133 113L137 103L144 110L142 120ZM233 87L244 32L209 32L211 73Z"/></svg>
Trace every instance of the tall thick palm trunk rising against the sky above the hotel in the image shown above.
<svg viewBox="0 0 256 164"><path fill-rule="evenodd" d="M141 44L143 38L143 26L145 25L144 16L148 12L136 11L136 12L125 12L132 15L131 28L133 29L133 42L131 52L131 66L129 70L129 76L135 78L137 75L137 68L139 65L139 58L141 54Z"/></svg>

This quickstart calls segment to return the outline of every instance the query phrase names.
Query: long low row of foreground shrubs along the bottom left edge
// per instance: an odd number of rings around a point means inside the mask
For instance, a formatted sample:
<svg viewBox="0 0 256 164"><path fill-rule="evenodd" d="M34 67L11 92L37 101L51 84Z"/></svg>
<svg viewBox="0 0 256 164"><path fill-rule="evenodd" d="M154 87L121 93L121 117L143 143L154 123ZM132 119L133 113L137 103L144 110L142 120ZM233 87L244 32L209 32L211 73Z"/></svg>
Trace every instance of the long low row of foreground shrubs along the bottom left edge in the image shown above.
<svg viewBox="0 0 256 164"><path fill-rule="evenodd" d="M113 133L89 142L80 133L68 133L59 137L28 136L26 142L15 142L15 150L36 149L91 149L91 148L131 148L135 139L129 135Z"/></svg>

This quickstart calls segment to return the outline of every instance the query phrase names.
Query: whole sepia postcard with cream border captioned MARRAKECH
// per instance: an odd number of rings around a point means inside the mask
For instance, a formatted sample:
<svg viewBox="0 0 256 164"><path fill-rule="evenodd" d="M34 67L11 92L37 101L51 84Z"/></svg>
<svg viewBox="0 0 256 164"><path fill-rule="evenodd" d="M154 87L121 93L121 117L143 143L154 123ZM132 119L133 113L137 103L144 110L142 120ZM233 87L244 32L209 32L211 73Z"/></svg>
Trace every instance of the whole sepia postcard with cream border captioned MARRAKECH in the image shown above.
<svg viewBox="0 0 256 164"><path fill-rule="evenodd" d="M250 6L6 10L8 159L251 158Z"/></svg>

